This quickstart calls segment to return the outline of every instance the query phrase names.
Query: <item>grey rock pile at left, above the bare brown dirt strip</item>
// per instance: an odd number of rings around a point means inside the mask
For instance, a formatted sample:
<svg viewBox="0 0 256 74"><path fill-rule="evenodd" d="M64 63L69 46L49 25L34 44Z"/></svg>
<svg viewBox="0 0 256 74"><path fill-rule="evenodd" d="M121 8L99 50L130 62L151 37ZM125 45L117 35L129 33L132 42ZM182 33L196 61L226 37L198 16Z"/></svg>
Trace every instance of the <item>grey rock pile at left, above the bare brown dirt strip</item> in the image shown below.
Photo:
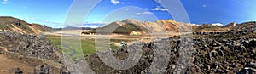
<svg viewBox="0 0 256 74"><path fill-rule="evenodd" d="M55 54L58 48L44 37L10 32L4 32L0 37L0 46L7 48L9 52L38 59L61 61Z"/></svg>

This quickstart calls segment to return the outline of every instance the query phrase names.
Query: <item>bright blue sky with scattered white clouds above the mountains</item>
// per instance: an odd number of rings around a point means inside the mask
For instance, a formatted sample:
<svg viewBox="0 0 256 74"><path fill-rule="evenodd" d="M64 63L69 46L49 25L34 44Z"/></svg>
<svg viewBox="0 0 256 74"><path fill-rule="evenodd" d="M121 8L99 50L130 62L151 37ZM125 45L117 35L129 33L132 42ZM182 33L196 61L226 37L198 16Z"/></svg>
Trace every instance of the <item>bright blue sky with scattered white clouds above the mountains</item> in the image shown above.
<svg viewBox="0 0 256 74"><path fill-rule="evenodd" d="M256 20L256 0L180 1L192 24L226 25ZM73 0L0 0L0 16L13 16L28 23L58 28L63 26L72 4ZM125 11L127 8L129 11ZM98 27L127 18L143 21L172 19L167 10L154 0L102 0L91 10L83 24Z"/></svg>

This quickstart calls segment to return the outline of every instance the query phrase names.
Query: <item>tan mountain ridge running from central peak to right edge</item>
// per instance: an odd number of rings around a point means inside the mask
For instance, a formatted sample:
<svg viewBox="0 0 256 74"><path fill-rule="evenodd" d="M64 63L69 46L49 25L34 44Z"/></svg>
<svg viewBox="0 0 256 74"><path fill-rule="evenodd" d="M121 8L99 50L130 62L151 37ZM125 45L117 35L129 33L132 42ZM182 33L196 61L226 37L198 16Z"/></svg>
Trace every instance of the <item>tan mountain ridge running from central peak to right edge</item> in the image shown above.
<svg viewBox="0 0 256 74"><path fill-rule="evenodd" d="M119 27L117 27L119 26ZM256 22L250 21L241 24L230 23L228 25L220 26L216 24L188 24L183 22L177 22L175 20L157 20L155 22L143 22L135 19L127 19L122 21L114 21L97 29L94 29L87 33L109 33L109 30L114 34L125 35L140 35L149 34L150 32L163 32L163 31L194 31L194 32L224 32L224 31L241 31L241 30L256 30Z"/></svg>

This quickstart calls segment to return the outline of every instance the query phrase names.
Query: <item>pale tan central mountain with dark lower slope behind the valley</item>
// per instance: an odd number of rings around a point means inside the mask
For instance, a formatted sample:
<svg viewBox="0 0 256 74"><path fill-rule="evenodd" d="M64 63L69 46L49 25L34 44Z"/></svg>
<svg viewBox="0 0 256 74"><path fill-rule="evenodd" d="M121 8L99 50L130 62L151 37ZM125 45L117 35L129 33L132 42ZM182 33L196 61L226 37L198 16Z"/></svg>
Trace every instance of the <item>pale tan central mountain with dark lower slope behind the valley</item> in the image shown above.
<svg viewBox="0 0 256 74"><path fill-rule="evenodd" d="M178 26L177 26L178 25ZM119 27L117 27L119 26ZM195 26L192 24L185 24L176 22L175 20L157 20L155 22L143 22L135 19L127 19L122 21L115 21L107 26L97 28L99 33L108 33L109 30L116 28L113 33L116 34L128 34L128 35L139 35L149 34L152 32L163 32L163 31L178 31L179 28L183 31L191 30L189 26ZM95 33L95 30L90 33Z"/></svg>

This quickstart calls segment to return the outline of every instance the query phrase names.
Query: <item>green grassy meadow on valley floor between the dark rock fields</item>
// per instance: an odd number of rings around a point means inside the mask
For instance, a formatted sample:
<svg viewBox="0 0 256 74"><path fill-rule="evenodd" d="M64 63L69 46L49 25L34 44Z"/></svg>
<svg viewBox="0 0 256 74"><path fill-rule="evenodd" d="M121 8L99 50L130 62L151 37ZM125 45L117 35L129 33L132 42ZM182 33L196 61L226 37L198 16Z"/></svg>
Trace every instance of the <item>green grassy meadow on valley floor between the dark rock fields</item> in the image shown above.
<svg viewBox="0 0 256 74"><path fill-rule="evenodd" d="M81 40L81 46L79 43L75 43L78 42L78 40L76 39L76 37L71 37L70 39L65 40L65 42L63 42L63 44L67 44L67 46L63 46L61 45L61 36L46 36L52 43L54 43L56 45L57 48L60 48L60 51L65 51L65 52L61 52L62 54L67 55L67 58L69 60L72 60L72 62L77 62L77 60L81 60L84 58L84 56L88 55L88 54L95 54L96 53L96 47L95 47L95 40L93 39L82 39ZM76 40L75 40L76 39ZM81 50L82 48L82 50ZM117 49L117 46L113 46L113 44L110 44L110 48L111 49ZM73 52L75 52L75 54L73 54ZM69 56L69 54L73 54L73 56ZM84 54L81 55L81 54Z"/></svg>

